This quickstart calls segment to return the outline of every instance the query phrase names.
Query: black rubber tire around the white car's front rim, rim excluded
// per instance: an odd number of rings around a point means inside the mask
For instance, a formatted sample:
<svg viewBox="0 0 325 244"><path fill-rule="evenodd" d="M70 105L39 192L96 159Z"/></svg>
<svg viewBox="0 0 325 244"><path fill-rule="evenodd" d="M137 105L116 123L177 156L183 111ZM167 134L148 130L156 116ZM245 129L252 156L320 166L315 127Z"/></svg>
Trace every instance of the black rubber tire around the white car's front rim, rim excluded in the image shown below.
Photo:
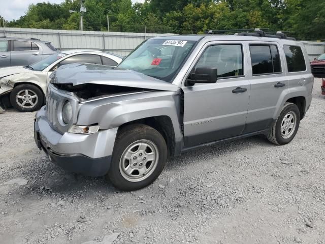
<svg viewBox="0 0 325 244"><path fill-rule="evenodd" d="M32 108L22 108L17 104L16 95L17 95L17 93L19 93L21 90L24 90L24 89L32 90L38 96L38 102L37 102L36 106L34 106ZM40 90L40 88L38 88L37 86L32 85L32 84L17 85L15 88L13 88L13 90L12 90L12 92L10 94L10 103L11 103L11 105L20 112L34 112L34 111L37 111L42 107L43 102L44 102L44 100L43 100L43 92L42 92L42 90Z"/></svg>

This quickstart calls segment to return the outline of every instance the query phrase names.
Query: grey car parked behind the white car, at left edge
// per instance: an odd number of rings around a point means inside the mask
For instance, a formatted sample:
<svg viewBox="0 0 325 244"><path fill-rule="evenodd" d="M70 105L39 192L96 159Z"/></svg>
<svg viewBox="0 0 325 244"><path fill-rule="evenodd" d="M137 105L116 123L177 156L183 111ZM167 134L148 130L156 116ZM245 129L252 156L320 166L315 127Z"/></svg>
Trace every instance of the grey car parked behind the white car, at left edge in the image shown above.
<svg viewBox="0 0 325 244"><path fill-rule="evenodd" d="M35 38L0 38L0 68L25 66L52 55L57 50L50 42Z"/></svg>

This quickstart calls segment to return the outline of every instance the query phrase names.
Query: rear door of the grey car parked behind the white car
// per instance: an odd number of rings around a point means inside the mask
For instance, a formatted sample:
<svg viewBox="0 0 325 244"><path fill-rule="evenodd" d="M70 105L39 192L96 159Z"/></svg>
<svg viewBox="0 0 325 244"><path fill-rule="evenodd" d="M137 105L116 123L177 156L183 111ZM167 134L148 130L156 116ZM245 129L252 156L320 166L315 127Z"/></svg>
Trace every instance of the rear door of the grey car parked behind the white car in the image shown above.
<svg viewBox="0 0 325 244"><path fill-rule="evenodd" d="M11 66L31 65L42 59L42 50L34 42L14 40L11 43Z"/></svg>

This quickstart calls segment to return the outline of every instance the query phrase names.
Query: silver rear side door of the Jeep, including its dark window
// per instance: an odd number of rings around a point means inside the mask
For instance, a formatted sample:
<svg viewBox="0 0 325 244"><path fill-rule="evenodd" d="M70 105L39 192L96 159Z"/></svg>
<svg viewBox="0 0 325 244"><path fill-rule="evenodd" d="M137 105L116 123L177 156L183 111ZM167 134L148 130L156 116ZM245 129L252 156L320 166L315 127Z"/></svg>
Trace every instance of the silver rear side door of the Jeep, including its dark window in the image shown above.
<svg viewBox="0 0 325 244"><path fill-rule="evenodd" d="M276 119L280 97L288 93L284 71L284 55L276 42L246 42L249 52L250 99L245 133L271 127Z"/></svg>

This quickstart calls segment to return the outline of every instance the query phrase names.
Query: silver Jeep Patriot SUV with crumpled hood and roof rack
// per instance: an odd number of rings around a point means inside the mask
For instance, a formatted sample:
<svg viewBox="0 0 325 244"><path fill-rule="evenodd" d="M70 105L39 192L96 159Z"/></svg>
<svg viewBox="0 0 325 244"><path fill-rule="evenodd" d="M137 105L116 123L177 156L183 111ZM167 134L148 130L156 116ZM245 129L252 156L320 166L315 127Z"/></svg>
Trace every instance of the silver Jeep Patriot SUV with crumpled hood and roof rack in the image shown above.
<svg viewBox="0 0 325 244"><path fill-rule="evenodd" d="M117 67L53 73L35 141L60 167L132 191L193 148L257 134L289 143L312 87L303 44L282 33L156 37Z"/></svg>

